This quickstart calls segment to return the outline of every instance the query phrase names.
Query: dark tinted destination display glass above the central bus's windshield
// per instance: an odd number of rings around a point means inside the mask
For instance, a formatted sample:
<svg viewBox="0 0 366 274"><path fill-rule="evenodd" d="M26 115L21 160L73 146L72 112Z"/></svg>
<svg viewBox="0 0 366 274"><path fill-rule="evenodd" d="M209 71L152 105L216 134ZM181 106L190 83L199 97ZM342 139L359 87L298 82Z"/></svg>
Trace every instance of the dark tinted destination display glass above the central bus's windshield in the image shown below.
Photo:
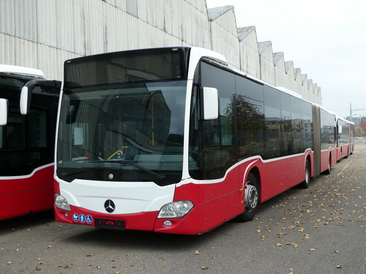
<svg viewBox="0 0 366 274"><path fill-rule="evenodd" d="M116 52L68 61L66 88L87 85L186 79L183 52Z"/></svg>

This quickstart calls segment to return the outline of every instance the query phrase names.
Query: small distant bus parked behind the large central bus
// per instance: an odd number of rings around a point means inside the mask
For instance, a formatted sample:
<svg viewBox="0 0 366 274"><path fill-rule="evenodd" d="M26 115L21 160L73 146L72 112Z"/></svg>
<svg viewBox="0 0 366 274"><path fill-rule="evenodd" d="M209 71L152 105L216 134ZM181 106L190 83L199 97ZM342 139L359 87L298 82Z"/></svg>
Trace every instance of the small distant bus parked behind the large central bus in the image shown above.
<svg viewBox="0 0 366 274"><path fill-rule="evenodd" d="M337 117L337 162L355 149L355 123Z"/></svg>

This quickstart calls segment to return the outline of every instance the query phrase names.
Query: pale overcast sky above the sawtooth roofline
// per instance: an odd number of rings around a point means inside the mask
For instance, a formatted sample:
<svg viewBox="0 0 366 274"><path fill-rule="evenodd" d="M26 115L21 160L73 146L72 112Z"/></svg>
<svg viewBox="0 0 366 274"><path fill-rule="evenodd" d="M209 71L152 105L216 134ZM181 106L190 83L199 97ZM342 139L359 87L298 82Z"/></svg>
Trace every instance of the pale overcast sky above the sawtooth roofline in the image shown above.
<svg viewBox="0 0 366 274"><path fill-rule="evenodd" d="M237 27L255 26L258 42L321 87L322 105L340 117L366 109L366 1L206 0L208 8L234 5ZM353 117L366 110L352 111Z"/></svg>

